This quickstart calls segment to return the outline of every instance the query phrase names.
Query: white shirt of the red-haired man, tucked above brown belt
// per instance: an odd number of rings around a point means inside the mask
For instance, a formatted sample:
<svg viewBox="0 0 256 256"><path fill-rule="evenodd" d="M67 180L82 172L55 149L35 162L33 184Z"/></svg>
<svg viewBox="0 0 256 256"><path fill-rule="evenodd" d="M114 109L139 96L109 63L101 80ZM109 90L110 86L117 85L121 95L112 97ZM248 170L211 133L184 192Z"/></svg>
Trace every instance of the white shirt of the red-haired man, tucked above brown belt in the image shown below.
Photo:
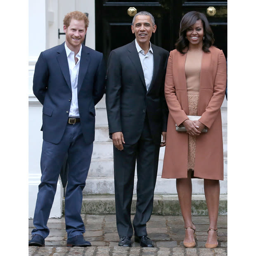
<svg viewBox="0 0 256 256"><path fill-rule="evenodd" d="M66 50L66 57L69 63L69 75L71 81L71 89L72 89L72 99L71 105L69 109L69 117L79 117L79 110L78 110L78 100L77 100L77 83L78 83L78 73L79 73L79 66L80 66L80 59L81 59L81 51L82 45L76 58L78 61L75 62L75 52L72 52L69 47L67 47L65 42L65 50Z"/></svg>

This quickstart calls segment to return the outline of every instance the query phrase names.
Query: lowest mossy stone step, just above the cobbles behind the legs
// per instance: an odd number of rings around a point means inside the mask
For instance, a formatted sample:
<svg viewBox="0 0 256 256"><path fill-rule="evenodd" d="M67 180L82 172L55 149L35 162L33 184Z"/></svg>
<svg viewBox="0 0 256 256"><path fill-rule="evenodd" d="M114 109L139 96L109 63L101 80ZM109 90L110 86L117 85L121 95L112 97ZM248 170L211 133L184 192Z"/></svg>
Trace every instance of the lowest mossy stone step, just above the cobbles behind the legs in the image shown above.
<svg viewBox="0 0 256 256"><path fill-rule="evenodd" d="M63 213L64 213L63 200ZM136 196L133 196L131 214L135 213ZM81 214L115 214L114 195L83 196ZM177 195L155 195L152 214L180 216L180 204ZM192 195L192 215L208 215L204 195ZM219 215L227 215L227 195L220 195Z"/></svg>

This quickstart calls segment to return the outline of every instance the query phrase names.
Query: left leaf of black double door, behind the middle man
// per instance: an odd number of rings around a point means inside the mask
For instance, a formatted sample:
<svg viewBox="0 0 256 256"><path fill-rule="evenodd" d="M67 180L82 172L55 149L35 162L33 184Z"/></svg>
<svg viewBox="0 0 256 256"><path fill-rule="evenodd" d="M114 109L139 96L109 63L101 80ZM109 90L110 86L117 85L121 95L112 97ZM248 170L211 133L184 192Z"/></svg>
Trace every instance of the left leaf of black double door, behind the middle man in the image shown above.
<svg viewBox="0 0 256 256"><path fill-rule="evenodd" d="M157 26L152 34L151 42L165 49L170 49L170 28L168 26L170 10L156 0L96 0L96 50L103 52L107 59L111 50L126 45L135 39L131 31L133 17L128 15L128 9L134 7L137 12L150 12Z"/></svg>

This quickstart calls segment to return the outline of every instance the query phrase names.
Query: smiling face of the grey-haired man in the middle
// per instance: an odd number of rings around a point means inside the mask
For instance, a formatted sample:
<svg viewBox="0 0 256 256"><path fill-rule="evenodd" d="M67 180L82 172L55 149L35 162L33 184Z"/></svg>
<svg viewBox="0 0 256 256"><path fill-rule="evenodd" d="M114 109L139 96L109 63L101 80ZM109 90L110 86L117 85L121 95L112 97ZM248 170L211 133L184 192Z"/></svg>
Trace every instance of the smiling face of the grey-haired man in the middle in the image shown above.
<svg viewBox="0 0 256 256"><path fill-rule="evenodd" d="M152 20L149 15L138 15L135 17L134 23L131 26L135 38L144 50L145 47L149 47L149 40L152 33L156 32L156 24L153 26Z"/></svg>

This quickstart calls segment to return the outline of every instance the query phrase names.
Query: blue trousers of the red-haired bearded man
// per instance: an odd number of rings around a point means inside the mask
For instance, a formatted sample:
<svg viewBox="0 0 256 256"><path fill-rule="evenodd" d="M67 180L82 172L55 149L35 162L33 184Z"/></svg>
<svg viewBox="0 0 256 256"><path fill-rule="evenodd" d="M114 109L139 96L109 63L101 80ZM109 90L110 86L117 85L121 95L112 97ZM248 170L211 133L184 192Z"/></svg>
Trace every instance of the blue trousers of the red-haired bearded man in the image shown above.
<svg viewBox="0 0 256 256"><path fill-rule="evenodd" d="M41 183L38 186L32 235L49 235L47 221L55 197L59 173L66 153L69 155L68 183L65 194L65 220L68 238L81 235L85 226L81 218L83 188L88 175L93 143L85 145L81 123L67 124L58 144L43 141L41 154Z"/></svg>

